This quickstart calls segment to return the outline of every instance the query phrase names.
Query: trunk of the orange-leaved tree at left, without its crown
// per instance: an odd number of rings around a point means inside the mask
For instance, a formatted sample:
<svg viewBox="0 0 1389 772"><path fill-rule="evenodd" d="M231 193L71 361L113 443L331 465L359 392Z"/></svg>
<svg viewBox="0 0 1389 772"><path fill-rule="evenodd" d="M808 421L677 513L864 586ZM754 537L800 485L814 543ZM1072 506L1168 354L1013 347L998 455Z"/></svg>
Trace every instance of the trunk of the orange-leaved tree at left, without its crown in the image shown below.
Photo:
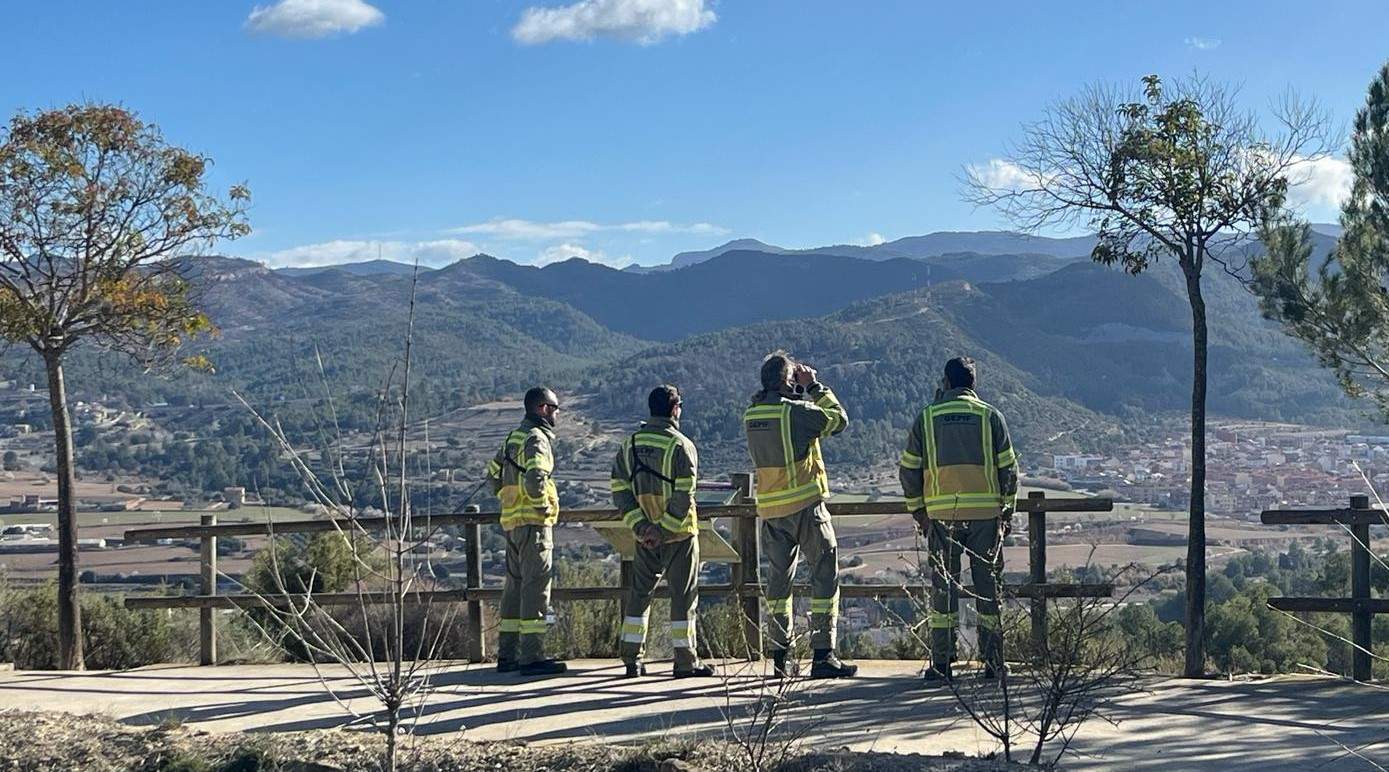
<svg viewBox="0 0 1389 772"><path fill-rule="evenodd" d="M76 476L72 472L72 418L63 382L63 353L46 351L49 407L53 411L53 448L58 468L58 668L81 671L82 607L78 603Z"/></svg>

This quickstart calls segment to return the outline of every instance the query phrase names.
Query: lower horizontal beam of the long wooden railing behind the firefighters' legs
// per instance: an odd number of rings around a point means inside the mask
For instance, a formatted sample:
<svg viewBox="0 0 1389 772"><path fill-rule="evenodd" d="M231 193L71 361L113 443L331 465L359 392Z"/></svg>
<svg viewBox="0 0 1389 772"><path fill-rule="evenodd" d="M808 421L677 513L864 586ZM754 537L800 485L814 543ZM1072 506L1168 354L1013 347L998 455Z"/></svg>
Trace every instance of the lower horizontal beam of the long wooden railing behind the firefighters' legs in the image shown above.
<svg viewBox="0 0 1389 772"><path fill-rule="evenodd" d="M761 596L764 589L760 585L751 585L743 590L746 596ZM795 587L797 596L808 597L810 586L800 585ZM904 597L925 597L928 587L924 586L901 586L901 585L840 585L840 597L849 598L904 598ZM700 586L700 594L707 596L726 596L733 593L732 585L703 585ZM622 587L554 587L550 591L550 597L563 601L575 600L621 600L625 597L626 590ZM669 597L669 589L661 585L656 590L657 597ZM1079 598L1079 597L1110 597L1114 594L1113 585L1006 585L1004 594L1014 598ZM274 594L261 596L250 593L233 593L225 596L132 596L125 598L126 608L135 610L150 610L150 608L256 608L265 605L289 605L303 604L306 596L301 593L290 593L288 596ZM357 593L314 593L314 603L318 605L357 605L358 603L365 603L368 605L386 605L393 601L388 593L382 591L368 591L358 597ZM481 601L500 601L501 587L483 587L478 590L467 589L453 589L453 590L422 590L410 593L407 603L464 603L469 600Z"/></svg>

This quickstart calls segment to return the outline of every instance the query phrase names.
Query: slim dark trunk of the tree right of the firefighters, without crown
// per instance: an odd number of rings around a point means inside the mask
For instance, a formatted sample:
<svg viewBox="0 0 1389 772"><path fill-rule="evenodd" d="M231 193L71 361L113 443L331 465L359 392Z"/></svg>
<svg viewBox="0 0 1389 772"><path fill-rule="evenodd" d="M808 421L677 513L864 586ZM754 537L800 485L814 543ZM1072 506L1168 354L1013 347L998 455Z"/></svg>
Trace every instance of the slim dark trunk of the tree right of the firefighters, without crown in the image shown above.
<svg viewBox="0 0 1389 772"><path fill-rule="evenodd" d="M1206 675L1206 299L1197 268L1183 267L1192 304L1192 500L1186 529L1186 678Z"/></svg>

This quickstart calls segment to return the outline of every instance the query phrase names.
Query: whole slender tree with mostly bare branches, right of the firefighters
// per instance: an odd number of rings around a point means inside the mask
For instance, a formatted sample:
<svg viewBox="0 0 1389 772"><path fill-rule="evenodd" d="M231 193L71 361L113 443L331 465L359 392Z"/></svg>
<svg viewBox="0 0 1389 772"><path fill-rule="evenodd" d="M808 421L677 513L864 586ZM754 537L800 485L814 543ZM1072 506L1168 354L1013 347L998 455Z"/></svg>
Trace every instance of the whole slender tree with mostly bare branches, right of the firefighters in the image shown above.
<svg viewBox="0 0 1389 772"><path fill-rule="evenodd" d="M1283 208L1301 164L1333 147L1325 114L1286 96L1275 132L1240 108L1238 92L1199 76L1142 93L1092 86L1025 126L1004 160L970 168L967 200L1028 232L1090 228L1090 257L1140 274L1163 257L1182 269L1192 311L1192 479L1186 547L1185 673L1206 669L1207 262L1245 278L1247 242Z"/></svg>

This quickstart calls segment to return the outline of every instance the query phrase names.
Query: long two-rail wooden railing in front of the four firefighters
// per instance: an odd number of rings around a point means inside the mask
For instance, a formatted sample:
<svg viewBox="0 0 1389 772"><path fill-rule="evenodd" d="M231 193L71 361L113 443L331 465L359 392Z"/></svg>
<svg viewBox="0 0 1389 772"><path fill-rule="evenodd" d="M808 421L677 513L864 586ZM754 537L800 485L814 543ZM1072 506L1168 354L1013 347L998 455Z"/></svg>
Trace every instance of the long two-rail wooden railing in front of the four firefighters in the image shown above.
<svg viewBox="0 0 1389 772"><path fill-rule="evenodd" d="M758 561L761 557L757 508L749 498L750 476L733 475L733 486L738 497L733 504L718 507L700 507L700 517L713 521L729 518L732 521L732 546L738 553L738 562L732 564L732 582L728 585L701 585L700 594L733 596L743 615L746 640L749 641L747 655L756 658L761 654L761 603L764 590L758 583ZM1108 512L1114 503L1108 498L1047 498L1045 493L1035 492L1025 498L1018 498L1018 512L1028 514L1029 548L1029 582L1025 585L1007 585L1004 593L1014 598L1028 598L1032 604L1032 633L1046 636L1046 601L1049 598L1075 597L1108 597L1114 593L1111 585L1065 585L1049 583L1046 580L1046 514L1047 512ZM874 501L863 504L829 504L829 514L835 518L881 517L906 514L904 503ZM560 522L613 522L621 521L622 515L617 510L575 510L563 512ZM483 644L483 630L486 629L483 603L501 600L501 587L482 586L482 526L497 525L496 512L458 512L432 515L429 528L461 526L465 554L465 586L449 590L425 590L411 593L415 600L429 600L431 603L467 603L468 614L468 657L481 661L486 657ZM365 529L383 528L385 518L357 518L356 523ZM238 593L217 593L217 539L219 536L271 536L288 533L322 533L342 528L331 519L307 519L285 522L239 522L217 523L217 515L203 515L200 525L142 528L125 532L126 543L153 543L160 539L199 539L201 542L201 589L196 596L138 596L125 598L126 608L197 608L199 610L199 661L204 665L217 662L217 626L213 610L256 607L267 600L288 601L303 600L301 596L278 596L276 598L263 598L261 596ZM575 600L619 600L625 596L631 578L631 562L622 564L618 586L607 587L554 587L551 598L556 601ZM797 586L797 594L808 589ZM920 586L900 585L842 585L840 597L846 598L901 598L914 593L925 591ZM664 593L664 587L658 590ZM314 601L321 605L351 605L358 603L358 593L314 593ZM367 593L367 603L386 603L385 593Z"/></svg>

